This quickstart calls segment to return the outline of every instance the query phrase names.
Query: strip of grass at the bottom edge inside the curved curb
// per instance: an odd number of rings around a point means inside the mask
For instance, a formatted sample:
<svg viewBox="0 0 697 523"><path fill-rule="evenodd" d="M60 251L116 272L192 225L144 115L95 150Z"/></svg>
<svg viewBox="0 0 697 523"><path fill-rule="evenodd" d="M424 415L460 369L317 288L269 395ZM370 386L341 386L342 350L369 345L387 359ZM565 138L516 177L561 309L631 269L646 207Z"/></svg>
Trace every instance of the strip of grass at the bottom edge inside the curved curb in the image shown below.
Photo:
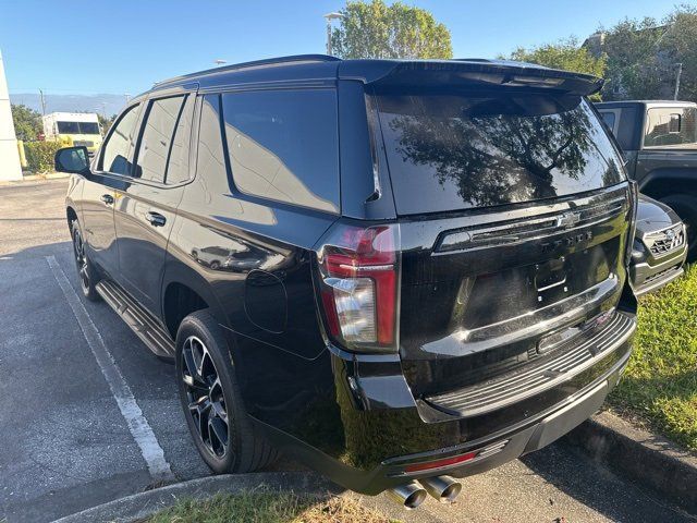
<svg viewBox="0 0 697 523"><path fill-rule="evenodd" d="M362 507L356 497L310 497L269 490L180 500L147 523L399 523Z"/></svg>

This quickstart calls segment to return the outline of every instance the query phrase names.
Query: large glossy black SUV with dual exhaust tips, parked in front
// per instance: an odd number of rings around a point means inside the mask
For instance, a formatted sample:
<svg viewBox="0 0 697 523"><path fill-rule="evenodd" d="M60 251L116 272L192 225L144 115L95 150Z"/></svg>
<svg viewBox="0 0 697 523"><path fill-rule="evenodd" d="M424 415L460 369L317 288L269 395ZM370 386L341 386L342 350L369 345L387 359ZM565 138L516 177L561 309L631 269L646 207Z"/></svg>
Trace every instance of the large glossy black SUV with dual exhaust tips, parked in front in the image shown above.
<svg viewBox="0 0 697 523"><path fill-rule="evenodd" d="M174 358L213 471L281 450L453 499L597 411L629 357L636 193L600 85L325 56L159 83L91 166L57 154L84 294Z"/></svg>

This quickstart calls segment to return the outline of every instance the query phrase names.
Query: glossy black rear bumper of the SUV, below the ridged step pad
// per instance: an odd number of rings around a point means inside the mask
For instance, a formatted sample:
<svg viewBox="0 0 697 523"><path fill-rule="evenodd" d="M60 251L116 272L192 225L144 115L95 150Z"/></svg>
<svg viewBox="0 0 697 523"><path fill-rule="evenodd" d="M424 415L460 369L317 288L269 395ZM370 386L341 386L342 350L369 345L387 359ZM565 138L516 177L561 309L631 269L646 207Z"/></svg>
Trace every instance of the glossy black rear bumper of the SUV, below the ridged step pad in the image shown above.
<svg viewBox="0 0 697 523"><path fill-rule="evenodd" d="M387 356L358 362L355 355L337 351L331 365L340 426L328 430L328 425L322 425L330 417L330 408L308 419L314 431L321 433L317 438L303 435L301 440L258 421L257 424L281 450L343 487L363 494L376 495L411 479L439 474L464 477L481 473L549 445L600 409L631 355L635 319L629 318L633 328L606 349L607 357L496 412L425 421L404 377L390 372L398 369L399 363L394 367ZM376 375L367 376L374 365L378 368ZM339 431L341 437L328 445L329 435ZM408 470L408 465L463 454L472 458L427 471Z"/></svg>

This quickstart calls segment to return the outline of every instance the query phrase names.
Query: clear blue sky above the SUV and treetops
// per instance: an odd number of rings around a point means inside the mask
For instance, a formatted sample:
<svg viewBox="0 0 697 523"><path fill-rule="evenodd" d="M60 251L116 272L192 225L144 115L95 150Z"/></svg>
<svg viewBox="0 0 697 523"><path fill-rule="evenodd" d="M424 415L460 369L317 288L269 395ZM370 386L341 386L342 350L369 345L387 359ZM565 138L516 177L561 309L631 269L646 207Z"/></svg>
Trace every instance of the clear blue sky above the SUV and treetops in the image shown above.
<svg viewBox="0 0 697 523"><path fill-rule="evenodd" d="M693 0L695 1L695 0ZM391 2L389 2L391 3ZM672 0L404 0L451 32L455 58L496 58L620 20L662 19ZM344 0L0 0L10 94L131 94L154 82L244 62L325 52L322 15Z"/></svg>

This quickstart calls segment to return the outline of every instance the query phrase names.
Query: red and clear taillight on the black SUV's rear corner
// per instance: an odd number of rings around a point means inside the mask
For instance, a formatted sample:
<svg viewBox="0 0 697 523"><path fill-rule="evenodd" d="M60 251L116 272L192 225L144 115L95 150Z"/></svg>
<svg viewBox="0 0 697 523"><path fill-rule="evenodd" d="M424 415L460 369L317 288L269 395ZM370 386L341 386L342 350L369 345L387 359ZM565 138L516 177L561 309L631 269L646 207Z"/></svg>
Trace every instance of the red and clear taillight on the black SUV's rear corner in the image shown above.
<svg viewBox="0 0 697 523"><path fill-rule="evenodd" d="M329 335L352 350L395 350L399 227L337 226L317 259Z"/></svg>

